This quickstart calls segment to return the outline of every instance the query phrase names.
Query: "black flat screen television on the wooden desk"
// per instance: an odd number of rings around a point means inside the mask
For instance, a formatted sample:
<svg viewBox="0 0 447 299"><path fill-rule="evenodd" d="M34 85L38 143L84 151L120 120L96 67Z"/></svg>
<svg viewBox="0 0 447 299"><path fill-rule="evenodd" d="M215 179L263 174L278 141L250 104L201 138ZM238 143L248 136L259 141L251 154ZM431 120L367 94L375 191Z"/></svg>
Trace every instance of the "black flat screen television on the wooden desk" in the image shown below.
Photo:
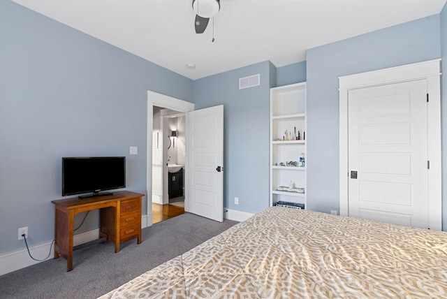
<svg viewBox="0 0 447 299"><path fill-rule="evenodd" d="M109 193L100 191L126 187L125 156L79 156L62 158L62 196L87 198Z"/></svg>

